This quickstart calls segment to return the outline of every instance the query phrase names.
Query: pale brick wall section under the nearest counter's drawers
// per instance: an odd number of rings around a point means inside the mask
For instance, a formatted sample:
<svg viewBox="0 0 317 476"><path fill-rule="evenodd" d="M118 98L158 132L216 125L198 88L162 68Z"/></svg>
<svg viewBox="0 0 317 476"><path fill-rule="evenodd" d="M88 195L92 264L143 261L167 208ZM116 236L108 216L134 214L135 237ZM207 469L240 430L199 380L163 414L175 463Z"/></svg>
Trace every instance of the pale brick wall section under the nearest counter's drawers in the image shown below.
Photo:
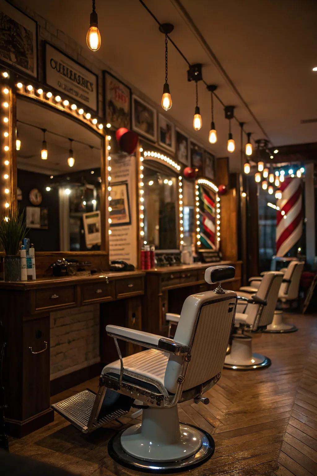
<svg viewBox="0 0 317 476"><path fill-rule="evenodd" d="M50 314L50 379L100 362L99 305Z"/></svg>

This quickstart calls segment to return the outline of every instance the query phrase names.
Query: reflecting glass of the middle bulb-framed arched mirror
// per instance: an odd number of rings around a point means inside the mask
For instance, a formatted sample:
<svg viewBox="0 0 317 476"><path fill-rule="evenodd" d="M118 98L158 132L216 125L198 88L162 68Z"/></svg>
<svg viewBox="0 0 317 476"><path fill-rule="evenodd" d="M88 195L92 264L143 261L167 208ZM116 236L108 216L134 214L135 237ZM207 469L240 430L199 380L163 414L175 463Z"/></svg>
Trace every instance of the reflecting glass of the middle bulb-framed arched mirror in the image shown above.
<svg viewBox="0 0 317 476"><path fill-rule="evenodd" d="M155 249L178 248L177 177L144 163L144 240Z"/></svg>

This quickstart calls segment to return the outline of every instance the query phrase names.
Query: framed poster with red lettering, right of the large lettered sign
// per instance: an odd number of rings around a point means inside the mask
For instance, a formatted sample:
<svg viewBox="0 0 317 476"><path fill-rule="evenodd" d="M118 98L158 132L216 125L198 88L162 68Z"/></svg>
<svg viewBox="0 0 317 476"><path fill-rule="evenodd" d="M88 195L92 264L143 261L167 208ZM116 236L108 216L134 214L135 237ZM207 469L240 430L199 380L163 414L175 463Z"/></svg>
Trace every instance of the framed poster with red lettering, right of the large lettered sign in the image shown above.
<svg viewBox="0 0 317 476"><path fill-rule="evenodd" d="M131 89L108 71L104 78L104 116L115 129L131 129Z"/></svg>

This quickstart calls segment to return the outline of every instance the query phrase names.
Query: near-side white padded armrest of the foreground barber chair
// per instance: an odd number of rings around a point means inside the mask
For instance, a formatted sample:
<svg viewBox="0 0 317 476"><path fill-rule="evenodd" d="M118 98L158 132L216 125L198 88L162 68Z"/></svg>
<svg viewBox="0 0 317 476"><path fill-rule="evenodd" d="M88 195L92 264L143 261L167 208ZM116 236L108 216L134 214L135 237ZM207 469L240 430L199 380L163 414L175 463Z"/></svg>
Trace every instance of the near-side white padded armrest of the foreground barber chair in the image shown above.
<svg viewBox="0 0 317 476"><path fill-rule="evenodd" d="M175 342L173 339L158 336L157 334L150 334L149 332L129 329L128 327L108 325L106 326L106 332L108 336L114 337L115 339L126 340L149 349L163 350L163 352L177 356L188 355L190 349L189 346L184 346L179 342Z"/></svg>

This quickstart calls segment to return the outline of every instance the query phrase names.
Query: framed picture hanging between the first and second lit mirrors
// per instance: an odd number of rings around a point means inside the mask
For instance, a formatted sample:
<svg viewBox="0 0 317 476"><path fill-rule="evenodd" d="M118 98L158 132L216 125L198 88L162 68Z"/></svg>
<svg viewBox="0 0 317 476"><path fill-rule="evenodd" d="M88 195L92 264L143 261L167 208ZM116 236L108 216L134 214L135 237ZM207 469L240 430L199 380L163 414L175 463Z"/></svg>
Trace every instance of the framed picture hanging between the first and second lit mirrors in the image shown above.
<svg viewBox="0 0 317 476"><path fill-rule="evenodd" d="M111 227L131 224L129 190L127 182L111 184Z"/></svg>

